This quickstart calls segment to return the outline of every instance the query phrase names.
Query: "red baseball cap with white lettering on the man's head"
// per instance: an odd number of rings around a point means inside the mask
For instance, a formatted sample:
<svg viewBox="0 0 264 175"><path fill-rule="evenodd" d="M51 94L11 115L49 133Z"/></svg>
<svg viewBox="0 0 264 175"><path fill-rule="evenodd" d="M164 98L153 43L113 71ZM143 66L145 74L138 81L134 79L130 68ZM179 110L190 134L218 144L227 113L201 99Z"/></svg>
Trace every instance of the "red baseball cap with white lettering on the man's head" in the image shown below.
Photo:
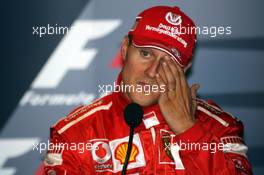
<svg viewBox="0 0 264 175"><path fill-rule="evenodd" d="M136 47L162 50L186 68L195 47L195 28L192 19L178 7L156 6L141 12L128 34Z"/></svg>

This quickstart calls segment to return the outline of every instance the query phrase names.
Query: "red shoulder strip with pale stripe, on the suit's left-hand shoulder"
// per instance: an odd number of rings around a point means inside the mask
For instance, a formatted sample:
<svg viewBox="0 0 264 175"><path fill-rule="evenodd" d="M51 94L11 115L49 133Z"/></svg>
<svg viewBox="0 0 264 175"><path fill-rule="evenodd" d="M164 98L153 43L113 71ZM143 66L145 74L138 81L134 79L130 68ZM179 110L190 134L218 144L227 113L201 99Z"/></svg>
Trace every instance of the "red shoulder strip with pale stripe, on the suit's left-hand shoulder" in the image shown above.
<svg viewBox="0 0 264 175"><path fill-rule="evenodd" d="M82 120L96 116L100 111L109 110L112 106L111 94L95 100L89 105L79 106L71 111L67 116L60 119L51 128L62 134L73 125L80 124Z"/></svg>

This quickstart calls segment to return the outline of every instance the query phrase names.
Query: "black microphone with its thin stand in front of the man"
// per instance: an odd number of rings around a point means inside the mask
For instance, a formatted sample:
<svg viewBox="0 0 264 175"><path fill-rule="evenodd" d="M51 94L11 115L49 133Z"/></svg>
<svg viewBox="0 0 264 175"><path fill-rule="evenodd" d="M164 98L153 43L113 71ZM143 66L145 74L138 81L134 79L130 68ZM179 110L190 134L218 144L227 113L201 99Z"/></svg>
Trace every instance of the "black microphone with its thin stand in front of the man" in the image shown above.
<svg viewBox="0 0 264 175"><path fill-rule="evenodd" d="M129 132L127 154L122 170L122 175L126 175L126 169L132 149L134 129L142 122L143 114L144 112L142 107L137 103L130 103L125 108L124 117L127 125L130 127L130 132Z"/></svg>

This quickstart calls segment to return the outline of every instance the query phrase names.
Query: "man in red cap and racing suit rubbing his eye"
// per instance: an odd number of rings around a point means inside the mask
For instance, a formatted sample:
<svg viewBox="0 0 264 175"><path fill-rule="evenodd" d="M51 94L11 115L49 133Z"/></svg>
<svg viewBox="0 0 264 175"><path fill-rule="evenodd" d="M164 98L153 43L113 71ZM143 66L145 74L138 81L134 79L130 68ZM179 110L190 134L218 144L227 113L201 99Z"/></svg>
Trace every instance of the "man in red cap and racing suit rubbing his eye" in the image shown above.
<svg viewBox="0 0 264 175"><path fill-rule="evenodd" d="M252 174L242 123L196 98L199 85L186 81L196 42L195 32L181 32L187 28L195 25L178 7L152 7L137 16L121 45L119 90L52 126L47 174L121 174L129 135L123 112L131 102L144 116L127 174ZM82 143L86 149L76 149Z"/></svg>

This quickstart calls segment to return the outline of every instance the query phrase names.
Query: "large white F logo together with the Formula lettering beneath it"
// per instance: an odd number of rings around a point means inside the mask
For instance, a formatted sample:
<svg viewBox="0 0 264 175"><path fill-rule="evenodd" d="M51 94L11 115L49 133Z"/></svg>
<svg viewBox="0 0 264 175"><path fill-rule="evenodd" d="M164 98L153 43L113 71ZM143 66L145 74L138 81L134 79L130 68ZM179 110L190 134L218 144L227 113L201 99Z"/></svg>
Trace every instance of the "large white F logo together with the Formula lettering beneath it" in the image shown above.
<svg viewBox="0 0 264 175"><path fill-rule="evenodd" d="M84 70L89 67L98 50L85 49L85 45L109 35L121 20L77 20L69 33L62 39L48 61L40 70L20 100L20 106L77 106L88 104L95 99L94 93L84 91L73 94L40 94L34 89L56 89L70 70ZM32 90L33 89L33 90Z"/></svg>

